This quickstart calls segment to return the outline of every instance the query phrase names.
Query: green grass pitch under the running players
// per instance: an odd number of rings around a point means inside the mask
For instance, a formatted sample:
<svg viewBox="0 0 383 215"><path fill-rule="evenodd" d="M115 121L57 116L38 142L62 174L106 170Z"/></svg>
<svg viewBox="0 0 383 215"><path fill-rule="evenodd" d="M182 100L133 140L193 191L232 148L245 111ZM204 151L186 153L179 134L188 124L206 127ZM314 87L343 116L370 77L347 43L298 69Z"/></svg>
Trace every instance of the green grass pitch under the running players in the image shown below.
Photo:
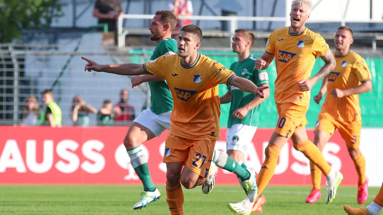
<svg viewBox="0 0 383 215"><path fill-rule="evenodd" d="M124 214L169 215L164 186L158 187L161 199L146 208L133 210L142 186L133 185L0 185L0 214ZM264 215L336 215L343 214L343 205L361 207L357 204L357 187L339 187L337 197L326 205L326 188L322 187L322 199L310 205L304 202L311 187L268 186L264 191L267 203ZM378 193L379 187L370 187L367 206ZM216 185L206 195L201 187L183 189L184 212L188 215L225 215L232 213L227 204L239 202L244 191L237 186ZM255 214L255 213L254 213Z"/></svg>

